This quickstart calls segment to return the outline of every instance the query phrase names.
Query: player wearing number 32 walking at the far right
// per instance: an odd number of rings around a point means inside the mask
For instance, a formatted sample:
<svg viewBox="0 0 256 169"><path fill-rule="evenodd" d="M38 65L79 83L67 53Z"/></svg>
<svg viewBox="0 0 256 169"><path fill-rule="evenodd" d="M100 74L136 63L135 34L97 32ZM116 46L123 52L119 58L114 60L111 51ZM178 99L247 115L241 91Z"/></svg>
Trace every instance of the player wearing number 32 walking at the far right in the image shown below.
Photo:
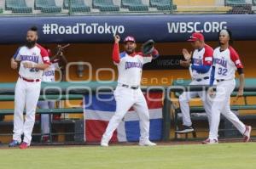
<svg viewBox="0 0 256 169"><path fill-rule="evenodd" d="M236 50L230 46L231 32L222 30L219 32L220 47L213 52L213 66L210 85L213 80L217 81L216 96L212 101L212 121L209 138L203 144L218 144L218 125L220 114L224 115L241 132L244 142L250 140L252 127L244 125L238 117L230 110L230 94L233 92L236 81L236 70L239 74L240 86L237 99L243 95L244 73L243 65Z"/></svg>

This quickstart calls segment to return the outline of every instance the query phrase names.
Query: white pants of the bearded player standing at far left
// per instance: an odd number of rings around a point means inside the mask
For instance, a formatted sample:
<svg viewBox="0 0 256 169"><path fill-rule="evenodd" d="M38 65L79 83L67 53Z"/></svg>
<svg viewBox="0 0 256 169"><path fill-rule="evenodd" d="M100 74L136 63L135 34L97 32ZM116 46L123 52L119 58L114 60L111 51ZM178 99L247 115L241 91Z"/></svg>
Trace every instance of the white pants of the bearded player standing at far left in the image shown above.
<svg viewBox="0 0 256 169"><path fill-rule="evenodd" d="M32 140L32 129L35 123L35 113L40 95L41 82L26 82L19 78L15 87L15 115L13 139L28 145ZM26 117L23 120L23 110L26 107Z"/></svg>

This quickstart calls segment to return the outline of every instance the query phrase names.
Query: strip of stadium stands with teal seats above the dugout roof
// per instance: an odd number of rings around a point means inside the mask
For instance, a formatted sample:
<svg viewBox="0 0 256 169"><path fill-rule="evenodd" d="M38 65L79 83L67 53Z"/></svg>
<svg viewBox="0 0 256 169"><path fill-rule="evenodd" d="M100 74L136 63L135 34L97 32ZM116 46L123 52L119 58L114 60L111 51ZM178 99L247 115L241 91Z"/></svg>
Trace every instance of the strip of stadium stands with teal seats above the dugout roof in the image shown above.
<svg viewBox="0 0 256 169"><path fill-rule="evenodd" d="M0 14L253 14L256 0L3 0Z"/></svg>

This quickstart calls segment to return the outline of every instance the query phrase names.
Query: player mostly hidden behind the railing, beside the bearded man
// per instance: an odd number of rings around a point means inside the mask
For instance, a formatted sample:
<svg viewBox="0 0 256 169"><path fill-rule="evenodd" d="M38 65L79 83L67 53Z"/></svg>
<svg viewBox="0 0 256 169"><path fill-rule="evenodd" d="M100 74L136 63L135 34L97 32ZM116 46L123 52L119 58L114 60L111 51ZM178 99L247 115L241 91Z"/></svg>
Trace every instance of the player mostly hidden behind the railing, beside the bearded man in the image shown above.
<svg viewBox="0 0 256 169"><path fill-rule="evenodd" d="M49 57L52 56L51 51L47 48L47 52ZM62 52L61 52L62 53ZM67 63L67 60L63 60L62 57L56 57L61 54L55 54L55 56L50 57L51 65L47 70L44 70L42 76L42 82L55 82L55 70L60 69L59 62ZM51 100L44 100L38 101L38 108L40 109L54 109L55 108L55 101ZM42 114L41 115L41 131L42 131L42 142L49 142L49 114Z"/></svg>

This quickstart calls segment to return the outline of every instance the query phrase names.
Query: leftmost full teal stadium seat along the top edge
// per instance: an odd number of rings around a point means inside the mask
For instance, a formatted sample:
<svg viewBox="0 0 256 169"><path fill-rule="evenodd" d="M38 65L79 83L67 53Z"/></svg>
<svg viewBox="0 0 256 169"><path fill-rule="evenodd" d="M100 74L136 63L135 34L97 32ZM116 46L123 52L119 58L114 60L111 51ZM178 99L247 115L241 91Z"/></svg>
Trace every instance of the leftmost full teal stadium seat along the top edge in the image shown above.
<svg viewBox="0 0 256 169"><path fill-rule="evenodd" d="M6 0L5 9L13 13L32 13L32 8L27 7L25 0Z"/></svg>

